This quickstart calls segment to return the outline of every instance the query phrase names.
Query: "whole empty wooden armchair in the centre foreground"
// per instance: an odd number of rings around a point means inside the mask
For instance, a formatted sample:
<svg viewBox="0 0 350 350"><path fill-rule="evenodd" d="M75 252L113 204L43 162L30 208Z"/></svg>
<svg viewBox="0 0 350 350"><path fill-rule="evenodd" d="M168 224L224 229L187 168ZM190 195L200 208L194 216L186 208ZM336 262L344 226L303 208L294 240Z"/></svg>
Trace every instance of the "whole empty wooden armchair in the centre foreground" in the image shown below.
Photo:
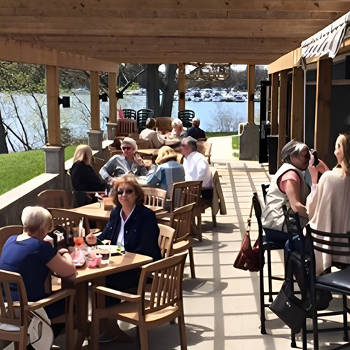
<svg viewBox="0 0 350 350"><path fill-rule="evenodd" d="M92 286L92 349L99 349L99 321L101 318L137 325L141 350L148 350L148 330L179 320L181 350L187 349L183 314L183 267L186 253L174 255L141 267L137 295L111 288ZM151 293L147 293L148 276L153 275ZM101 295L125 300L110 307L99 307Z"/></svg>

